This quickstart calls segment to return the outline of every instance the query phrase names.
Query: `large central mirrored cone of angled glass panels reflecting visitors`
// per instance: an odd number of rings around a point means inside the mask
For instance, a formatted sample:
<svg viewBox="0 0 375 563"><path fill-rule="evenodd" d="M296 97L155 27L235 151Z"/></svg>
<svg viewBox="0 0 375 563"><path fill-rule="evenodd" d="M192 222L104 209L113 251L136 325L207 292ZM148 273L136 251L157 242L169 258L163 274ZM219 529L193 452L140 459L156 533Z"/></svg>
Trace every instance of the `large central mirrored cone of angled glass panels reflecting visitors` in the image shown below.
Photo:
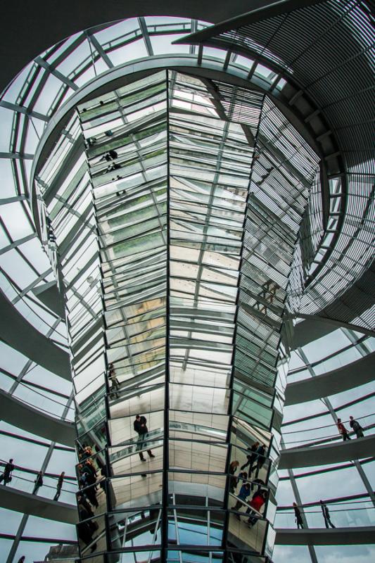
<svg viewBox="0 0 375 563"><path fill-rule="evenodd" d="M39 220L89 562L272 554L282 317L318 165L265 94L176 70L85 101L61 132Z"/></svg>

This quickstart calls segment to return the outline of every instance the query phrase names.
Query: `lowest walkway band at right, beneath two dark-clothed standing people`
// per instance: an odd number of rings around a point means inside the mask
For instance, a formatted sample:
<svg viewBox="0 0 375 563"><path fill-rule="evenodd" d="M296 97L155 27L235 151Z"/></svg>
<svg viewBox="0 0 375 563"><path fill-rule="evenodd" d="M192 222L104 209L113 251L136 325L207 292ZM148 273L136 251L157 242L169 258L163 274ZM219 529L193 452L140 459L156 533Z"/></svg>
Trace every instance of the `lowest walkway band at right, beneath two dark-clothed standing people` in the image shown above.
<svg viewBox="0 0 375 563"><path fill-rule="evenodd" d="M277 545L355 545L375 543L375 526L358 528L276 529Z"/></svg>

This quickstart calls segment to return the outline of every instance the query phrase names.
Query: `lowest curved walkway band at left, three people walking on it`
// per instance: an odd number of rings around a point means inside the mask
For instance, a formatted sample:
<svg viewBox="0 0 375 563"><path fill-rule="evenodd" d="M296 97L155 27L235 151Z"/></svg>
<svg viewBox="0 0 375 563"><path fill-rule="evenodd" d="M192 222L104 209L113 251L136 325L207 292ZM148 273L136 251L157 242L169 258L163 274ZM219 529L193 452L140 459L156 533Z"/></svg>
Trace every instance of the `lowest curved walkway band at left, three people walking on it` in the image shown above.
<svg viewBox="0 0 375 563"><path fill-rule="evenodd" d="M58 502L49 498L31 495L18 491L10 486L0 485L0 505L8 510L31 514L40 518L76 524L78 520L77 509L65 502Z"/></svg>

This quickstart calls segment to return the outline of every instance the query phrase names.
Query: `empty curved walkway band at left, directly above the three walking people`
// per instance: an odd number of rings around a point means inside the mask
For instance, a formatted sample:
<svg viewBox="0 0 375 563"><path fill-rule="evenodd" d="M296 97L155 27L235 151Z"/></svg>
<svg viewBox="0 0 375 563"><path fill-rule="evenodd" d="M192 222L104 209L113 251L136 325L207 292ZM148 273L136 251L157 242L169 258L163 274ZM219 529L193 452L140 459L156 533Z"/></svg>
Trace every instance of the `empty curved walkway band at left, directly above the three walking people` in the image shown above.
<svg viewBox="0 0 375 563"><path fill-rule="evenodd" d="M9 424L47 440L74 446L76 434L72 422L51 417L1 390L0 417Z"/></svg>

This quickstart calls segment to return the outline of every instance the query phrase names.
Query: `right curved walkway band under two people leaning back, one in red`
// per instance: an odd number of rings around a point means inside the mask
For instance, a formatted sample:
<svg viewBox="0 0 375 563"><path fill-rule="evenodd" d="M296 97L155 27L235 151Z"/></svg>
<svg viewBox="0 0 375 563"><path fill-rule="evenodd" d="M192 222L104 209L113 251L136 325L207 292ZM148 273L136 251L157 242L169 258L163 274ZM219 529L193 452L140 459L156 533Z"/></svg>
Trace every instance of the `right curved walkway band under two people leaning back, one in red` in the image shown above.
<svg viewBox="0 0 375 563"><path fill-rule="evenodd" d="M364 438L352 438L345 442L281 450L279 469L360 460L371 455L375 455L375 434Z"/></svg>

